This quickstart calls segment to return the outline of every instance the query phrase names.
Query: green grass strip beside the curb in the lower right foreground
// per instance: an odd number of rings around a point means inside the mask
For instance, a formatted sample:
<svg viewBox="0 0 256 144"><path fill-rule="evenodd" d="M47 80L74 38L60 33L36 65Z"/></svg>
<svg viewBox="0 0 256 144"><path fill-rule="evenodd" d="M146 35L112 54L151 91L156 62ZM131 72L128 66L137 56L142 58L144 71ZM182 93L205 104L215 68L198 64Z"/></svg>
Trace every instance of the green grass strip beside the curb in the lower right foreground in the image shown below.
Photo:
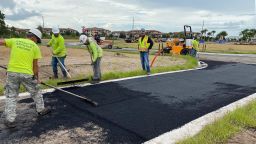
<svg viewBox="0 0 256 144"><path fill-rule="evenodd" d="M256 101L227 114L224 118L206 126L195 137L185 139L178 144L226 143L232 136L248 128L256 128Z"/></svg>

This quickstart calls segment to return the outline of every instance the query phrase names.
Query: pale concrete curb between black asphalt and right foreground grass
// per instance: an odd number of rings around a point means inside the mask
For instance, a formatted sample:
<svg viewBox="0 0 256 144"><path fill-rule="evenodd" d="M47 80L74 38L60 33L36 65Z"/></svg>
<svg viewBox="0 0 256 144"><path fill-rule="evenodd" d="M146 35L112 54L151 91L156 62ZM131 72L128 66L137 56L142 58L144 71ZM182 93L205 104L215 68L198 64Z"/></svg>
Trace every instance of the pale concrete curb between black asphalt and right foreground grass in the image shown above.
<svg viewBox="0 0 256 144"><path fill-rule="evenodd" d="M236 110L256 100L256 93L249 95L243 99L224 106L216 111L208 113L198 119L195 119L180 128L164 133L156 138L153 138L144 144L175 144L181 140L193 137L198 134L206 125L212 124L216 120L223 118L229 112Z"/></svg>

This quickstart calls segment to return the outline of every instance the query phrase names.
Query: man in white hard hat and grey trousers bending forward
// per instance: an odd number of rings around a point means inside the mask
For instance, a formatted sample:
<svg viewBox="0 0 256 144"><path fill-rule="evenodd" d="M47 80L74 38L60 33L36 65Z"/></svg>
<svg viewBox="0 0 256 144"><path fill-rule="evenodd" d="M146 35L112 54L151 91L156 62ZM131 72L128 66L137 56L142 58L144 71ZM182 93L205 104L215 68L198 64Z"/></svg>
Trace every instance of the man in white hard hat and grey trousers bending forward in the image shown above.
<svg viewBox="0 0 256 144"><path fill-rule="evenodd" d="M87 45L88 51L91 55L92 66L93 66L93 83L98 83L101 80L101 69L100 63L103 56L102 48L92 38L88 38L86 35L79 37L80 43Z"/></svg>

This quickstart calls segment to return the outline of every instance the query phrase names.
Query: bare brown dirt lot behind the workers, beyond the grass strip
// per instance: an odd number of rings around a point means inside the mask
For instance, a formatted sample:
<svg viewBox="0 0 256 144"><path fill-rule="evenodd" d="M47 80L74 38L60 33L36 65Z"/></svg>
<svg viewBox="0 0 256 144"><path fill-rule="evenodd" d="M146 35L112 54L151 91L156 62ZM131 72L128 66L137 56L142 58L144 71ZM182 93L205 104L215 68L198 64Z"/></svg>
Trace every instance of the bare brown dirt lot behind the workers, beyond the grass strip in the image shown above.
<svg viewBox="0 0 256 144"><path fill-rule="evenodd" d="M40 78L45 81L51 77L51 53L49 48L41 46L43 58L39 61ZM0 65L6 66L9 61L10 49L0 47ZM153 59L153 56L150 57ZM158 66L174 66L182 65L186 61L177 57L158 57L154 67ZM83 76L87 77L92 74L91 59L86 49L68 48L68 56L66 58L66 66L72 77ZM102 73L108 72L128 72L141 69L139 54L123 54L117 52L104 52L102 58ZM5 82L5 70L0 69L0 85ZM59 76L62 74L59 69Z"/></svg>

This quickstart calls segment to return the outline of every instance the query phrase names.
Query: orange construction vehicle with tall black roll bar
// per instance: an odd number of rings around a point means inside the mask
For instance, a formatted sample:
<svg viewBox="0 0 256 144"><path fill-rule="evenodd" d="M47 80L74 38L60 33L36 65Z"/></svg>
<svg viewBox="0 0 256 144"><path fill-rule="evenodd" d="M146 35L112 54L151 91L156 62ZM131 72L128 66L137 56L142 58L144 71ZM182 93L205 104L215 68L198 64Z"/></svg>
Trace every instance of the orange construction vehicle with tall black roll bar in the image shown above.
<svg viewBox="0 0 256 144"><path fill-rule="evenodd" d="M166 47L163 48L164 53L172 53L174 55L187 55L192 49L193 33L191 26L184 26L183 38L174 38L166 41Z"/></svg>

